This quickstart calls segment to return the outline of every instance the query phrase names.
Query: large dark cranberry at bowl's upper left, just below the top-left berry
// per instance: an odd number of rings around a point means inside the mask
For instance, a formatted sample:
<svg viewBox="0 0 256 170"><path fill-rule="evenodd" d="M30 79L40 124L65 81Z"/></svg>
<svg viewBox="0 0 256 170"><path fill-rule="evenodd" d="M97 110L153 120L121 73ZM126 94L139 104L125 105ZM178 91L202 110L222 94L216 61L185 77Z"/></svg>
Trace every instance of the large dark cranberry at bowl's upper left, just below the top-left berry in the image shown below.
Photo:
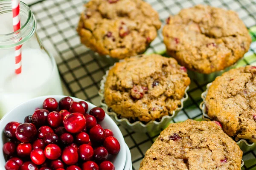
<svg viewBox="0 0 256 170"><path fill-rule="evenodd" d="M49 111L46 109L38 109L32 115L32 122L36 126L43 126L47 124L47 116Z"/></svg>

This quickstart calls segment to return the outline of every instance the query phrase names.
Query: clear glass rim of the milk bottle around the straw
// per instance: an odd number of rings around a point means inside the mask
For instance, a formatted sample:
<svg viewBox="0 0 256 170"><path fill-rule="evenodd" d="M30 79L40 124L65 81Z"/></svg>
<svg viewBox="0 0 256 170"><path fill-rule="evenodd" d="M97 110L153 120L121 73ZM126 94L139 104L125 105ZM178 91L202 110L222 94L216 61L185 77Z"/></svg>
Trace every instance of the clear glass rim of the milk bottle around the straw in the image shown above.
<svg viewBox="0 0 256 170"><path fill-rule="evenodd" d="M0 0L0 7L0 15L12 13L12 0ZM26 15L27 19L19 30L9 34L0 34L0 49L22 45L35 34L37 27L35 17L32 14L29 6L20 1L20 15L24 14Z"/></svg>

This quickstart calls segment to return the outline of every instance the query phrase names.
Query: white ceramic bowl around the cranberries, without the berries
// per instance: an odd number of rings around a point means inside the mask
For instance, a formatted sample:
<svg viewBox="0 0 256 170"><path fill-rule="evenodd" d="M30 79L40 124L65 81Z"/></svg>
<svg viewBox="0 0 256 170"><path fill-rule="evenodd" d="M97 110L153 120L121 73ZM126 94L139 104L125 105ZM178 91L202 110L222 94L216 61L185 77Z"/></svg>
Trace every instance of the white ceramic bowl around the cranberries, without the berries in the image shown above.
<svg viewBox="0 0 256 170"><path fill-rule="evenodd" d="M5 142L8 141L8 138L6 138L6 136L3 133L3 129L6 126L6 124L8 122L11 121L16 121L16 122L23 122L24 118L28 115L32 115L32 113L34 113L35 108L42 108L42 104L44 102L44 100L48 97L53 97L55 98L57 101L59 101L61 98L65 97L65 96L41 96L41 97L37 97L34 99L31 99L27 102L24 102L20 105L18 105L17 107L15 107L14 109L12 109L9 113L7 113L5 116L3 116L3 118L0 121L0 131L2 132L2 135L0 136L0 170L4 170L5 167L5 158L4 158L4 154L3 154L3 144ZM72 99L76 102L81 101L81 99L78 98L74 98L72 97ZM95 105L87 102L88 104L88 111L90 111L90 109L96 107ZM108 160L110 160L111 162L113 162L116 170L123 170L125 167L125 161L126 161L126 144L125 144L125 140L122 136L121 131L119 130L118 126L116 125L116 123L110 118L110 116L108 116L106 114L105 119L100 122L100 125L102 125L102 127L104 129L110 129L113 131L114 133L114 137L119 141L121 149L120 152L116 155L116 156L111 156L109 155Z"/></svg>

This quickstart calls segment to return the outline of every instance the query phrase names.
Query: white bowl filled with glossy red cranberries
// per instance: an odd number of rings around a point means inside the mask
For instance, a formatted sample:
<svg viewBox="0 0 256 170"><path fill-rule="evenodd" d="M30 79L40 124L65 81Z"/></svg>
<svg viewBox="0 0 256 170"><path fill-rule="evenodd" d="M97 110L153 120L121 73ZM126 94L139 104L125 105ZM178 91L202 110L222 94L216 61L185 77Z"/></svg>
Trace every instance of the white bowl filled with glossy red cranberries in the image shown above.
<svg viewBox="0 0 256 170"><path fill-rule="evenodd" d="M0 121L1 170L123 170L126 144L102 108L69 96L41 96Z"/></svg>

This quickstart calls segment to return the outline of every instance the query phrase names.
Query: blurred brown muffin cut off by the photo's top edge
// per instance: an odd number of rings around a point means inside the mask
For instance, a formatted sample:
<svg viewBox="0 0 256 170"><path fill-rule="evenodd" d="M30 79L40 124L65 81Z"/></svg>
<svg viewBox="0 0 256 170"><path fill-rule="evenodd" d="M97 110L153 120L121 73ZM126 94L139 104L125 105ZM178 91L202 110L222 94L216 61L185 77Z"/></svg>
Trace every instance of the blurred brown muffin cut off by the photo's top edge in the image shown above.
<svg viewBox="0 0 256 170"><path fill-rule="evenodd" d="M142 0L90 0L81 13L81 43L100 55L124 59L143 53L157 37L161 22Z"/></svg>

